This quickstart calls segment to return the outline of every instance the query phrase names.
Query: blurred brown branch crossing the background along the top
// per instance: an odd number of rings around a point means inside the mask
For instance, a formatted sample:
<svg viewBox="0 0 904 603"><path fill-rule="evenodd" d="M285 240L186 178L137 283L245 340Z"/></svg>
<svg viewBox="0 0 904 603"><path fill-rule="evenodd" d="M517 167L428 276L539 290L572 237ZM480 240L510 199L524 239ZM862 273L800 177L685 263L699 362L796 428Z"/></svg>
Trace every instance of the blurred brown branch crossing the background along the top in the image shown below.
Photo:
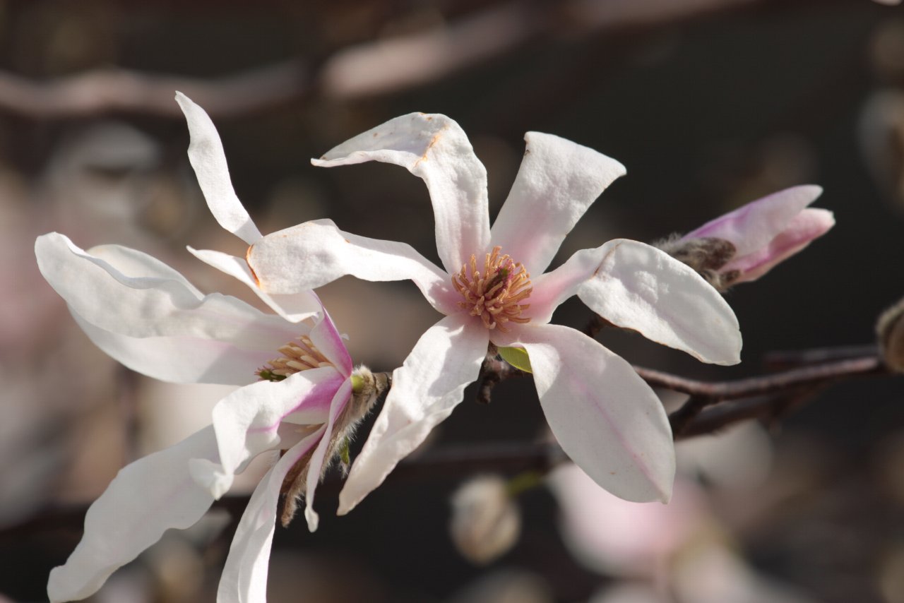
<svg viewBox="0 0 904 603"><path fill-rule="evenodd" d="M853 0L847 1L853 4ZM815 0L809 2L815 4ZM613 30L637 34L664 23L749 5L782 10L799 4L808 3L498 2L423 31L340 49L323 61L298 57L219 79L114 68L39 81L0 71L0 111L34 119L80 118L113 111L181 118L173 93L182 90L213 118L234 117L297 102L314 93L325 99L347 100L409 90L514 52L542 37L561 38L563 33L580 37Z"/></svg>

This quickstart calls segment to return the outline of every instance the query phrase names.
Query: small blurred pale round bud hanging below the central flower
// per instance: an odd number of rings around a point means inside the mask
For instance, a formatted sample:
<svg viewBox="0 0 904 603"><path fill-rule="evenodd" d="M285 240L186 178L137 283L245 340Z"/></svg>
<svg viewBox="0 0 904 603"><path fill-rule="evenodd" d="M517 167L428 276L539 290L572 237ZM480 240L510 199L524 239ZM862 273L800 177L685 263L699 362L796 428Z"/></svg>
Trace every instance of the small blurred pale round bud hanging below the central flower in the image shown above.
<svg viewBox="0 0 904 603"><path fill-rule="evenodd" d="M476 476L452 495L452 542L484 565L512 548L521 533L521 511L502 476Z"/></svg>

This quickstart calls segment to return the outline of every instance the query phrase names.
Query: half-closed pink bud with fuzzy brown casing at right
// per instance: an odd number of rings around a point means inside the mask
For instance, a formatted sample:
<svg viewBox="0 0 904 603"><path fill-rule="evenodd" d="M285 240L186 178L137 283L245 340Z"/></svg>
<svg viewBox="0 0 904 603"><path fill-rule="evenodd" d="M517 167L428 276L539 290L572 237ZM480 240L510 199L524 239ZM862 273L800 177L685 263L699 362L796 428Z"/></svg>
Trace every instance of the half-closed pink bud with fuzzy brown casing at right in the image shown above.
<svg viewBox="0 0 904 603"><path fill-rule="evenodd" d="M835 224L832 212L807 209L823 189L794 186L708 221L659 247L724 290L756 280Z"/></svg>

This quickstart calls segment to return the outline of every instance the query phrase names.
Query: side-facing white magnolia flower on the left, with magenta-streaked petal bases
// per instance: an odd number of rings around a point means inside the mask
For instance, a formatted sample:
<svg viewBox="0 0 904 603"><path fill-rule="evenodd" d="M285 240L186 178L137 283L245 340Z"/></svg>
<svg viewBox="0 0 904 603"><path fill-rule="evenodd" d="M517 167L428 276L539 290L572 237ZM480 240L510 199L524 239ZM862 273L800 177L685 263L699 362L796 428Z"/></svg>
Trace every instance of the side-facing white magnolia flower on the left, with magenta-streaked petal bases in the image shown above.
<svg viewBox="0 0 904 603"><path fill-rule="evenodd" d="M246 240L259 239L232 192L209 118L190 100L181 101L192 127L189 153L214 215ZM265 601L279 497L286 494L285 524L297 496L305 495L308 527L316 529L315 487L372 402L370 372L353 375L342 338L311 291L268 296L244 259L201 254L248 283L282 316L235 297L205 296L176 270L126 247L85 251L54 232L38 238L35 254L91 341L119 362L169 382L243 386L217 403L210 427L119 472L90 506L69 560L52 570L49 597L89 597L167 529L197 522L253 457L283 450L242 515L218 594L221 603Z"/></svg>

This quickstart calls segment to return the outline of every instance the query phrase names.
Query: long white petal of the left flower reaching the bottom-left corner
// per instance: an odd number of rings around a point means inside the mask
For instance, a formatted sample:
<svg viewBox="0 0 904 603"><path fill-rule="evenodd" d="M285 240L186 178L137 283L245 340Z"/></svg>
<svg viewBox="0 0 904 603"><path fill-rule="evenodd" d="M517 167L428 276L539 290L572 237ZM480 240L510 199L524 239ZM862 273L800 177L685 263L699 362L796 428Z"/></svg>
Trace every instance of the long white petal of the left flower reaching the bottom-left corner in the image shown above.
<svg viewBox="0 0 904 603"><path fill-rule="evenodd" d="M54 603L87 598L119 567L170 528L201 519L213 496L189 475L191 458L218 460L213 428L124 467L85 515L85 532L64 565L51 571Z"/></svg>

